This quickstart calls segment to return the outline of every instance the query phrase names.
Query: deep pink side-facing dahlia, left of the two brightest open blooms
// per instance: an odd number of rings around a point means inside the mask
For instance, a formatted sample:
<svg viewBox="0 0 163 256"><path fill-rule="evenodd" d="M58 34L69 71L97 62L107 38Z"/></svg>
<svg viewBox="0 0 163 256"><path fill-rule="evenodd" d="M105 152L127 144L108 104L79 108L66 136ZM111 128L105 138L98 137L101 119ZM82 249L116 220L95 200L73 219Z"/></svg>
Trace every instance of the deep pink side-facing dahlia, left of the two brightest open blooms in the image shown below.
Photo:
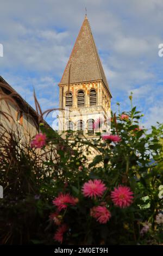
<svg viewBox="0 0 163 256"><path fill-rule="evenodd" d="M76 205L76 198L70 196L70 194L62 194L60 193L58 197L52 201L55 206L57 206L58 210L66 209L68 204Z"/></svg>

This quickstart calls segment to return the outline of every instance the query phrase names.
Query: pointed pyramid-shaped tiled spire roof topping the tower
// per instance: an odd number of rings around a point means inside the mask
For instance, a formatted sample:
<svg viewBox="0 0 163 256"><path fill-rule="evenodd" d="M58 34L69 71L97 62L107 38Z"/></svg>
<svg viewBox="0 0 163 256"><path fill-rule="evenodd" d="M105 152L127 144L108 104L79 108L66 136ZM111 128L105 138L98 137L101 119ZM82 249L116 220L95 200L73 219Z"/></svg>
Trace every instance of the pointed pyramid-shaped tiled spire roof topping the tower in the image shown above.
<svg viewBox="0 0 163 256"><path fill-rule="evenodd" d="M71 74L69 77L70 65ZM109 90L86 15L60 84L68 84L68 80L70 84L102 80Z"/></svg>

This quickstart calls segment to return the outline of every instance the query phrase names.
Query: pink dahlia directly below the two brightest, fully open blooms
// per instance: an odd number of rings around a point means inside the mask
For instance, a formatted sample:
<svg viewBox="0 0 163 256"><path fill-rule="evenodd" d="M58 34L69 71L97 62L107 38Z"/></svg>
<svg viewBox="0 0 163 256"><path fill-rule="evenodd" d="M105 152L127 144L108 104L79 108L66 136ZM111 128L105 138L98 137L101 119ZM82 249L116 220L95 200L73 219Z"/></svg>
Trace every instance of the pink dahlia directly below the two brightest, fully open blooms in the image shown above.
<svg viewBox="0 0 163 256"><path fill-rule="evenodd" d="M102 224L108 222L111 217L110 211L105 206L94 206L90 215Z"/></svg>

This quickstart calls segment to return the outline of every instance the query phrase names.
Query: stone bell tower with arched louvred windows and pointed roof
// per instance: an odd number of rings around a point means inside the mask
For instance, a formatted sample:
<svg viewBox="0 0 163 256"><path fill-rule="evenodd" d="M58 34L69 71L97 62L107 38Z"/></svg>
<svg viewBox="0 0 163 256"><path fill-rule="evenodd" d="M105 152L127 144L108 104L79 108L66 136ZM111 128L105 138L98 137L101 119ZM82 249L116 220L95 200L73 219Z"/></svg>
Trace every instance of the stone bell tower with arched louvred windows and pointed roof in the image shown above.
<svg viewBox="0 0 163 256"><path fill-rule="evenodd" d="M86 16L59 90L59 131L67 131L71 137L77 132L96 138L96 132L110 130L111 94ZM97 127L99 118L101 126Z"/></svg>

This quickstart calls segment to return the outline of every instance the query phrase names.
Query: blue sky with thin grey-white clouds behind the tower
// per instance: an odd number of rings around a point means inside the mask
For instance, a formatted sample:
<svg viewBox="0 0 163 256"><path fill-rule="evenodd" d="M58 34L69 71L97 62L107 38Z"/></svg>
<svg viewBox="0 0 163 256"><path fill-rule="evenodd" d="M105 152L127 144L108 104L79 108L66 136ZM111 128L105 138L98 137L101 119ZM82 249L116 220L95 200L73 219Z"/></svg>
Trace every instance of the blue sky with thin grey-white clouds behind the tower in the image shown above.
<svg viewBox="0 0 163 256"><path fill-rule="evenodd" d="M0 74L34 107L58 107L62 72L85 16L112 93L111 107L129 109L128 96L149 127L163 120L162 0L1 0ZM52 114L47 119L51 125Z"/></svg>

